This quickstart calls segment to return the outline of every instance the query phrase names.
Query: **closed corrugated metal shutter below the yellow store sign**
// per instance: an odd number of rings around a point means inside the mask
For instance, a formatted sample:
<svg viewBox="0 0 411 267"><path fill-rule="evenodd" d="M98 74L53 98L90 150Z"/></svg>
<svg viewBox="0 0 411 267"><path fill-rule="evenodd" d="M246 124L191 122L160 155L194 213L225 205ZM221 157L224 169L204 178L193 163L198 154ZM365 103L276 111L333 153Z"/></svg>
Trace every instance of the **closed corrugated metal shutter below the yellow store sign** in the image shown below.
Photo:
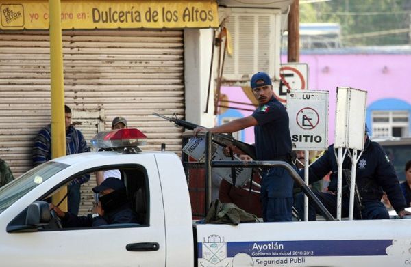
<svg viewBox="0 0 411 267"><path fill-rule="evenodd" d="M64 31L63 54L65 101L88 141L121 115L147 135L142 150L181 151L182 129L151 114L184 117L182 30ZM48 32L0 32L0 158L16 176L50 122L49 60ZM75 117L83 111L99 117Z"/></svg>

